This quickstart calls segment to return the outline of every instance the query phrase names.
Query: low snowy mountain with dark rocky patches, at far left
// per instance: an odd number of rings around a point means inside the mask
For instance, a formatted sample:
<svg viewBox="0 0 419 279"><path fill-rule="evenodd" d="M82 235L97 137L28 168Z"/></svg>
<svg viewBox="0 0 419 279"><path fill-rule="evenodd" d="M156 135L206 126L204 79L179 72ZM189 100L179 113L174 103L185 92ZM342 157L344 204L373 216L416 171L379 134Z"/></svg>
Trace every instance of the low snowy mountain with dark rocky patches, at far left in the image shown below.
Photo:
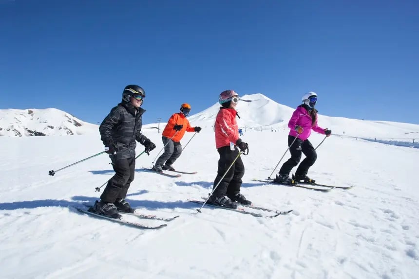
<svg viewBox="0 0 419 279"><path fill-rule="evenodd" d="M83 135L98 126L56 109L0 109L0 136Z"/></svg>

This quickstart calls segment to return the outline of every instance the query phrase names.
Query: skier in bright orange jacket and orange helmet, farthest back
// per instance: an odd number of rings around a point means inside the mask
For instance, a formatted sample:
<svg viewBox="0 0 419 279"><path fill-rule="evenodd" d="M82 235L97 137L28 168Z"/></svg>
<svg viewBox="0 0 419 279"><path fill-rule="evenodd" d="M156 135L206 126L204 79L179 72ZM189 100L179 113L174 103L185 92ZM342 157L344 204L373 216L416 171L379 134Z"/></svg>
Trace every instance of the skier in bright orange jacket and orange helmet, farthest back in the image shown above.
<svg viewBox="0 0 419 279"><path fill-rule="evenodd" d="M163 170L174 171L173 163L182 153L182 140L185 132L200 132L201 127L191 127L188 119L186 118L190 112L189 104L182 104L180 112L174 113L167 122L163 130L162 140L164 145L164 153L157 159L153 166L156 172Z"/></svg>

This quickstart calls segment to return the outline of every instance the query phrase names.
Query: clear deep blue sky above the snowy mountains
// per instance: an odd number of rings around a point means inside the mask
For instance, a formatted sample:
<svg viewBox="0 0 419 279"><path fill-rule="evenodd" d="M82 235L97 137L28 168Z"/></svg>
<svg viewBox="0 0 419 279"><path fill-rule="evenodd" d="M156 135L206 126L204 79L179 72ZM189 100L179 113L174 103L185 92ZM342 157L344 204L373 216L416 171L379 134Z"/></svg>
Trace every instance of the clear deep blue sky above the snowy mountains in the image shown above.
<svg viewBox="0 0 419 279"><path fill-rule="evenodd" d="M0 0L0 108L101 122L122 89L144 123L225 89L321 114L419 123L417 0Z"/></svg>

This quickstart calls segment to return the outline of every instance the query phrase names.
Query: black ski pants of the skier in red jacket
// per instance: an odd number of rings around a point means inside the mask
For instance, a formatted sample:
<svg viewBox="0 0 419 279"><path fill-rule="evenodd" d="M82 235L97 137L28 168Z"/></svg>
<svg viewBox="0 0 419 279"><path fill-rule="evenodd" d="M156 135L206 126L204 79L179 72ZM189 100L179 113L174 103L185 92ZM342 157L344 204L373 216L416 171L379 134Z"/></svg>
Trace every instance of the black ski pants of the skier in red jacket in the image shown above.
<svg viewBox="0 0 419 279"><path fill-rule="evenodd" d="M218 160L218 172L217 177L215 177L214 185L215 187L218 182L221 180L221 177L226 173L227 169L233 162L233 160L239 155L239 150L234 146L234 150L230 150L230 146L224 146L217 149L220 154L220 159ZM232 197L236 193L240 192L240 186L242 185L242 177L245 174L245 166L241 157L238 157L234 164L231 166L227 174L221 180L218 187L215 189L212 194L213 198L228 196Z"/></svg>

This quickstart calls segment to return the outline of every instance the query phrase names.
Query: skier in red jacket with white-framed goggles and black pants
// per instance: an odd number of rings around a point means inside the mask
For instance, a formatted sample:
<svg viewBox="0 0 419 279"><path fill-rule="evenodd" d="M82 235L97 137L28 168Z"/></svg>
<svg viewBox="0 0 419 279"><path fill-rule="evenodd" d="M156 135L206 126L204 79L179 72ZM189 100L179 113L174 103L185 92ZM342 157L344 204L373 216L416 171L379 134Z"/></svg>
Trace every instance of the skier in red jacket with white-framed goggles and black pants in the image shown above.
<svg viewBox="0 0 419 279"><path fill-rule="evenodd" d="M237 203L250 205L251 202L240 193L242 177L245 174L245 166L241 157L238 157L229 171L227 169L241 151L248 149L248 144L239 138L239 129L236 122L237 111L235 107L239 102L239 95L234 90L221 92L218 102L222 107L218 111L215 120L215 146L220 159L218 160L218 172L215 177L215 187L208 202L228 208L237 208ZM238 116L238 115L237 115ZM226 174L227 172L227 174ZM221 179L224 176L223 179Z"/></svg>

